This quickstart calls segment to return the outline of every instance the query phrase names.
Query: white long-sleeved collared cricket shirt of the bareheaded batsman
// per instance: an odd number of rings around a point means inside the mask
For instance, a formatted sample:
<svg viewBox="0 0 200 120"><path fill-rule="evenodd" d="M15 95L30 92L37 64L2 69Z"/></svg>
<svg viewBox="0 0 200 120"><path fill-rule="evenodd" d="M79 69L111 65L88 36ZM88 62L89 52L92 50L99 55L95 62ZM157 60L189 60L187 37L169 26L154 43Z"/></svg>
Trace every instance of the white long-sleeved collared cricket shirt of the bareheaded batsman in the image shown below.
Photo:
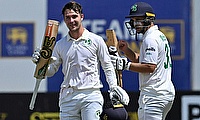
<svg viewBox="0 0 200 120"><path fill-rule="evenodd" d="M100 64L109 86L117 85L105 41L87 29L84 29L82 36L77 40L71 38L69 34L60 39L54 47L52 56L58 60L50 64L47 75L54 75L62 64L64 81L61 87L102 88Z"/></svg>

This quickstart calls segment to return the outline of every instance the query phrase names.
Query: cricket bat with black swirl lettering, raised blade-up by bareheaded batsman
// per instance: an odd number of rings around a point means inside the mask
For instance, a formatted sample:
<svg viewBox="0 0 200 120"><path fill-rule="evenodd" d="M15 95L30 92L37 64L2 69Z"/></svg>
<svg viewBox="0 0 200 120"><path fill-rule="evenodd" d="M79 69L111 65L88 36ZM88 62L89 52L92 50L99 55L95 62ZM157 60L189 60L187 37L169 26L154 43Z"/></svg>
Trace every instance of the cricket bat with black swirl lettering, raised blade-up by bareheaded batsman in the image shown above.
<svg viewBox="0 0 200 120"><path fill-rule="evenodd" d="M48 64L52 56L53 48L56 43L56 37L58 33L59 22L56 20L48 20L46 30L44 34L43 43L40 50L40 59L37 63L34 77L36 78L36 84L33 91L32 99L29 108L33 110L35 99L37 96L38 88L42 79L45 78L48 69Z"/></svg>

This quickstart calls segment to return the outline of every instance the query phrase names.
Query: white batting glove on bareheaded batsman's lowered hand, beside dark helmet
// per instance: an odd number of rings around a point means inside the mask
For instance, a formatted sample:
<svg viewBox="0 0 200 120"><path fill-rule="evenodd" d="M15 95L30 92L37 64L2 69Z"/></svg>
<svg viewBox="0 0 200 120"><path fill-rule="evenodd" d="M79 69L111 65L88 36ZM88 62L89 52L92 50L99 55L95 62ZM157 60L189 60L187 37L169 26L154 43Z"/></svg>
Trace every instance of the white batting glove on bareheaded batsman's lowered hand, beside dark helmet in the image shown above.
<svg viewBox="0 0 200 120"><path fill-rule="evenodd" d="M129 96L124 89L119 86L111 87L110 88L110 99L113 105L119 101L123 105L128 105L129 103ZM117 104L117 103L116 103Z"/></svg>

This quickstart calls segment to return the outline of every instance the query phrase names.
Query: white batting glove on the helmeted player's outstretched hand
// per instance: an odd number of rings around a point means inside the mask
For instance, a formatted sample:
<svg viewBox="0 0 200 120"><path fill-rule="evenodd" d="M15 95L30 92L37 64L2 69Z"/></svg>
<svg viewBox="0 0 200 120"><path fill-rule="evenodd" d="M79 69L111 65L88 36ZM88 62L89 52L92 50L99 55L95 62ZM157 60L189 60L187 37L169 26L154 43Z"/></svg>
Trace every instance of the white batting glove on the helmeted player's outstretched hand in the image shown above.
<svg viewBox="0 0 200 120"><path fill-rule="evenodd" d="M129 70L131 62L128 62L126 57L119 57L110 55L111 62L115 69L117 70Z"/></svg>

